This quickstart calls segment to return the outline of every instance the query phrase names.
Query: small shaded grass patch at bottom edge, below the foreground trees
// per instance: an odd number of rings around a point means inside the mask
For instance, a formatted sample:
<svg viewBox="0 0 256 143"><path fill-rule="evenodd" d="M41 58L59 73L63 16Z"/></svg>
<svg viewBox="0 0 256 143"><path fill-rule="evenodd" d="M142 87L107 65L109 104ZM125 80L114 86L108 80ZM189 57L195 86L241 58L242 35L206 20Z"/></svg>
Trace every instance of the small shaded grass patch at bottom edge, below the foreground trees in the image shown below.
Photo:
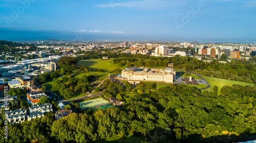
<svg viewBox="0 0 256 143"><path fill-rule="evenodd" d="M120 138L119 136L112 136L110 138L100 139L97 141L93 141L92 143L137 143L140 142L141 139L138 136L129 135L126 138Z"/></svg>

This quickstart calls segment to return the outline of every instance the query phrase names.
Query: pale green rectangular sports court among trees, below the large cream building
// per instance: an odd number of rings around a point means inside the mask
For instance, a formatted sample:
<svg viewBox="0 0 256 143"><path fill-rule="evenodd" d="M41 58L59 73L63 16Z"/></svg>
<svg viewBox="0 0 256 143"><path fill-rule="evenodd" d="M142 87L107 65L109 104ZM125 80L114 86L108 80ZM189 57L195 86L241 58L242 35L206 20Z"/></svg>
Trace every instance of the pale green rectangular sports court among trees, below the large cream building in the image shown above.
<svg viewBox="0 0 256 143"><path fill-rule="evenodd" d="M79 102L78 104L81 109L89 109L89 108L94 108L94 107L101 106L103 104L108 104L108 103L110 102L102 98L97 98L97 99Z"/></svg>

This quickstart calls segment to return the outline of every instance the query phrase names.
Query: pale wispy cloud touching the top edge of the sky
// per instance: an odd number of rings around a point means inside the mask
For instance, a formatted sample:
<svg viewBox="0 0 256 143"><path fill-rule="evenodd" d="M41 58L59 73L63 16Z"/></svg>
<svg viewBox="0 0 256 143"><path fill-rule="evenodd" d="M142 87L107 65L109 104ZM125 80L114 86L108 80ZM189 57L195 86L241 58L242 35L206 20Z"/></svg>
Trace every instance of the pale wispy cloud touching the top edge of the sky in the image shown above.
<svg viewBox="0 0 256 143"><path fill-rule="evenodd" d="M115 8L115 7L123 7L123 8L133 8L138 10L161 10L161 9L170 9L174 7L181 6L183 2L178 1L166 1L166 0L141 0L141 1L130 1L123 2L121 1L109 1L109 4L96 5L100 8Z"/></svg>

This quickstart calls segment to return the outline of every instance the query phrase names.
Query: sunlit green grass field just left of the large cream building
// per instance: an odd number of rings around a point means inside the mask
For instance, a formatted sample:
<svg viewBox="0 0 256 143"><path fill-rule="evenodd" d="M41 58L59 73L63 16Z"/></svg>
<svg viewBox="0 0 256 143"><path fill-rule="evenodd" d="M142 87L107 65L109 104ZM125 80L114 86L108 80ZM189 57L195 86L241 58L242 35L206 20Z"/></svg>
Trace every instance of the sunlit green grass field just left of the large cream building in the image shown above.
<svg viewBox="0 0 256 143"><path fill-rule="evenodd" d="M79 66L87 66L89 67L89 72L81 72L76 77L81 78L83 75L89 76L92 74L97 74L99 79L97 81L102 81L106 77L109 76L109 73L111 75L114 75L114 70L117 68L125 69L127 66L119 67L117 64L110 63L111 60L86 60L86 61L79 61L77 65ZM93 69L93 71L91 71ZM94 69L103 69L104 72L96 72ZM117 73L116 73L117 74Z"/></svg>

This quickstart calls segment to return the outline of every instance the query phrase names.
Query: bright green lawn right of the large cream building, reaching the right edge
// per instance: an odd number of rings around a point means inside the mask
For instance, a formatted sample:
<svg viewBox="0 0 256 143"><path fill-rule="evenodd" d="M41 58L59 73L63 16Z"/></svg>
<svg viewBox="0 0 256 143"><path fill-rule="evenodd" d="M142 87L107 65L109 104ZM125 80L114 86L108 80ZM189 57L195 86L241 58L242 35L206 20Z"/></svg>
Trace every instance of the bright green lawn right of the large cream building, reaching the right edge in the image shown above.
<svg viewBox="0 0 256 143"><path fill-rule="evenodd" d="M239 84L239 85L243 85L243 86L246 86L246 85L255 85L255 84L252 84L252 83L245 83L245 82L242 82L242 81L235 81L235 80L228 80L228 79L221 79L221 78L216 78L216 77L209 77L209 76L202 76L206 81L209 82L209 84L211 85L211 87L209 89L206 89L206 90L210 90L212 89L214 86L217 86L218 87L218 95L221 95L221 88L224 86L224 85L228 85L230 87L232 87L234 84ZM205 91L205 90L203 90Z"/></svg>

